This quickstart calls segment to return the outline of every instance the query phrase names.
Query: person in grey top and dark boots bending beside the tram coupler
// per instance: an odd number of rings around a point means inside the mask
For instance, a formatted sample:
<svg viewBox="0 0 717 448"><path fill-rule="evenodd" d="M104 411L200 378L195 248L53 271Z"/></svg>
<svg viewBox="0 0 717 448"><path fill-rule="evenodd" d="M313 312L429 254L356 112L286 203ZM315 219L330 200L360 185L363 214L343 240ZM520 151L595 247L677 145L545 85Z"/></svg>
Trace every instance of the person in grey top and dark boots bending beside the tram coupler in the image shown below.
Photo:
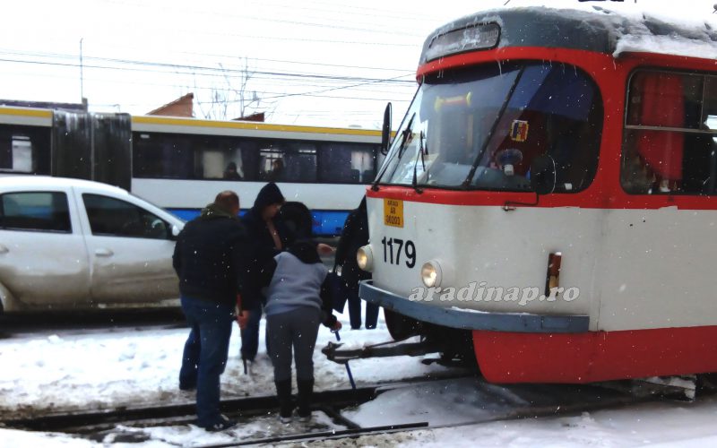
<svg viewBox="0 0 717 448"><path fill-rule="evenodd" d="M280 404L280 418L291 420L291 352L297 369L298 417L311 418L314 392L314 348L319 323L333 331L341 323L332 314L332 300L326 284L328 270L321 263L316 244L301 240L287 252L274 256L266 272L272 276L266 295L267 337L272 348L274 383Z"/></svg>

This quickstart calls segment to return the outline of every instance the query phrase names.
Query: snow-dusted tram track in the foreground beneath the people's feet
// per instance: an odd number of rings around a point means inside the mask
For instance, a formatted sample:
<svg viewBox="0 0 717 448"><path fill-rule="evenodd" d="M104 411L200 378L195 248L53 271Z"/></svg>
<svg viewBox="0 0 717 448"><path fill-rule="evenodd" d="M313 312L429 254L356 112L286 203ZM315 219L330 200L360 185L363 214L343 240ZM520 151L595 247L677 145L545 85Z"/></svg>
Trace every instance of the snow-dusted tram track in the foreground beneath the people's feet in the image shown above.
<svg viewBox="0 0 717 448"><path fill-rule="evenodd" d="M465 403L469 409L475 409L473 415L455 421L440 418L415 418L406 421L406 417L386 416L380 426L362 426L352 419L357 407L376 401L391 403L400 401L402 394L419 394L428 400L440 400L441 391L452 385L464 383L465 389L474 397ZM621 383L623 386L626 383ZM614 409L644 401L656 401L665 393L635 393L635 388L613 387L605 385L566 385L566 384L514 384L496 385L485 382L477 376L460 376L427 381L381 383L335 391L315 392L315 416L320 421L310 424L291 424L284 426L276 420L278 403L275 396L256 396L241 399L229 399L221 402L222 411L229 418L239 420L238 427L246 427L260 422L258 426L267 428L232 435L225 432L229 442L202 445L207 448L238 446L246 444L278 444L284 442L310 442L316 440L358 437L401 432L413 429L431 429L448 426L475 425L497 420L516 418L545 418L566 414L579 414L598 409ZM427 392L428 391L428 392ZM674 392L674 391L672 391ZM473 401L471 401L473 400ZM435 404L435 403L434 403ZM455 404L455 403L453 403ZM438 406L444 406L440 402ZM445 409L451 403L446 402ZM151 428L174 426L189 427L194 421L194 403L171 404L166 406L109 409L99 412L73 412L53 414L32 418L6 419L3 426L22 428L32 431L62 432L89 438L98 442L143 442L154 440ZM194 444L196 445L196 444Z"/></svg>

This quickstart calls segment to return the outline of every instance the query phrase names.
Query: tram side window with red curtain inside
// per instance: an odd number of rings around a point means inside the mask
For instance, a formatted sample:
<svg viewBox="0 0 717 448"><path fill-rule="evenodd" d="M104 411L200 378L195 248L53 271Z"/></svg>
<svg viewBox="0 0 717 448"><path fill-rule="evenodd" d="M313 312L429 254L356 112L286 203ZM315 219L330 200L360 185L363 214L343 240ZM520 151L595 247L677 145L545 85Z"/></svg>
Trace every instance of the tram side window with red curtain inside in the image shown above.
<svg viewBox="0 0 717 448"><path fill-rule="evenodd" d="M713 194L717 77L641 70L627 92L621 184L630 194Z"/></svg>

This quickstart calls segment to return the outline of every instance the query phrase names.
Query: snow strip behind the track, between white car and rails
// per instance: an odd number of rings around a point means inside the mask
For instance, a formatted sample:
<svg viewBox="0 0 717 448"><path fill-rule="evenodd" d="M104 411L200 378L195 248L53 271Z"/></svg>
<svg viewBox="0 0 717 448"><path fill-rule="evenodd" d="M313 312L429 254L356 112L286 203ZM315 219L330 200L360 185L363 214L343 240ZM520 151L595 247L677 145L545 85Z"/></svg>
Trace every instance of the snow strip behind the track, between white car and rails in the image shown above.
<svg viewBox="0 0 717 448"><path fill-rule="evenodd" d="M253 375L243 374L238 357L238 328L232 332L229 363L221 376L223 397L274 392L272 366L262 341ZM349 328L345 322L344 328ZM157 330L138 327L124 332L34 333L0 340L0 417L8 413L47 413L70 409L106 409L120 405L153 405L186 401L192 397L177 389L178 368L188 330ZM390 340L382 321L376 330L341 331L346 346ZM317 348L333 333L322 327ZM346 370L321 362L315 354L316 389L349 387ZM11 366L7 368L6 366ZM392 362L382 368L380 359L351 363L358 383L376 383L441 372L441 366L424 366L417 359Z"/></svg>

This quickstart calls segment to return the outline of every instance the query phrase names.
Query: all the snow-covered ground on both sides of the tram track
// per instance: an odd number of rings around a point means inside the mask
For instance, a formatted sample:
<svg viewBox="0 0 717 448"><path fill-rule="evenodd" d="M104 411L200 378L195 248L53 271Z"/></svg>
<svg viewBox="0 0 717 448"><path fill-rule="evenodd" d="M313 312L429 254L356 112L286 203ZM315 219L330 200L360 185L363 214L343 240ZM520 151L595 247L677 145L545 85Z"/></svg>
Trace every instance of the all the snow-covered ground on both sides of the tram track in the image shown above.
<svg viewBox="0 0 717 448"><path fill-rule="evenodd" d="M342 321L348 327L346 318ZM177 369L186 338L185 328L137 327L113 332L63 331L18 334L0 340L0 415L29 415L69 409L106 409L120 405L153 405L192 401L177 390ZM383 320L373 331L342 331L350 347L388 340ZM322 328L318 347L334 340ZM243 375L238 358L238 332L232 335L229 366L222 376L225 398L273 393L272 370L263 352L251 377ZM445 374L442 366L425 366L420 358L398 357L351 361L358 383L376 383L423 375ZM316 388L349 386L343 366L315 354ZM385 392L376 401L347 412L364 426L429 421L432 425L462 426L364 436L349 444L361 446L714 446L717 444L717 397L693 403L664 401L602 410L572 417L540 418L466 424L499 409L484 402L471 379L430 387ZM261 437L277 432L302 432L298 422L281 426L273 416L240 425L227 433L210 434L196 426L125 428L141 435L140 443L108 436L103 443L68 435L0 428L0 447L19 446L198 446L222 444L236 437ZM341 429L316 412L314 427ZM336 441L315 443L336 446Z"/></svg>

